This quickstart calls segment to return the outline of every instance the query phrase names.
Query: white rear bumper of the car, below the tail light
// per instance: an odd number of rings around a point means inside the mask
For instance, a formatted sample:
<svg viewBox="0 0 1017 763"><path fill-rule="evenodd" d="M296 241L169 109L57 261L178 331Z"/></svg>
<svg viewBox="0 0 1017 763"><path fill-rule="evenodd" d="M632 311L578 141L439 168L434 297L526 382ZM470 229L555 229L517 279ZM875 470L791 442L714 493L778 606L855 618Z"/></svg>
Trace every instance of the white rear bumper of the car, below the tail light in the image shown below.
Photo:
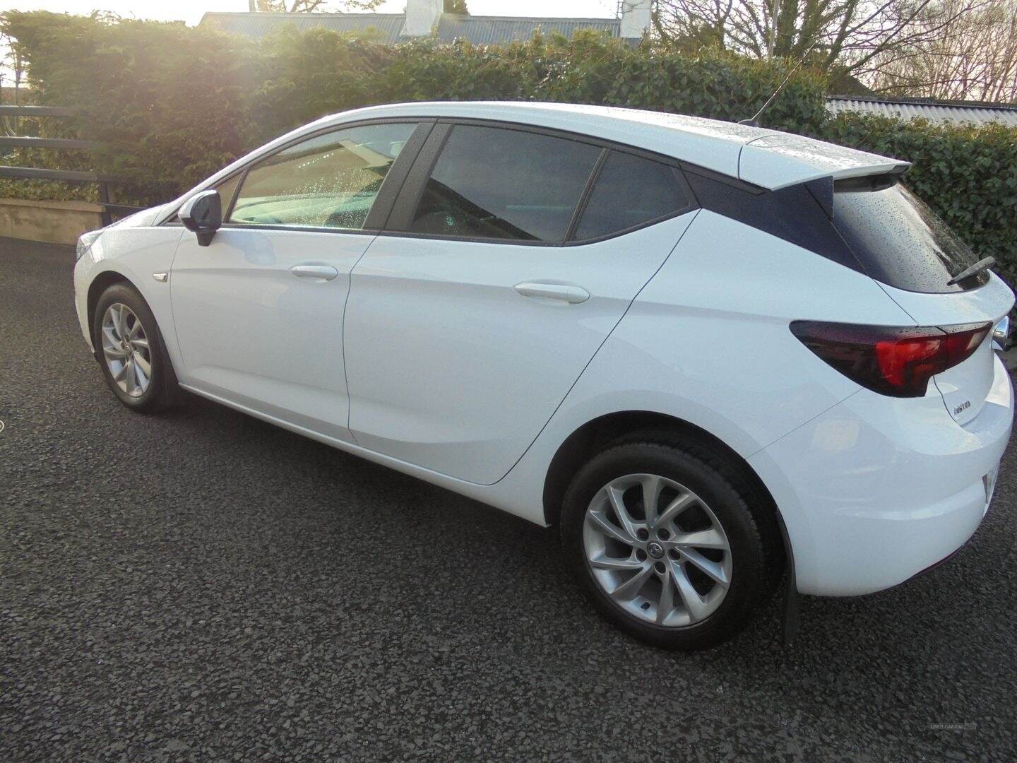
<svg viewBox="0 0 1017 763"><path fill-rule="evenodd" d="M862 390L750 459L787 526L799 591L889 588L971 537L1013 426L1010 377L999 358L994 369L964 425L935 390L904 400Z"/></svg>

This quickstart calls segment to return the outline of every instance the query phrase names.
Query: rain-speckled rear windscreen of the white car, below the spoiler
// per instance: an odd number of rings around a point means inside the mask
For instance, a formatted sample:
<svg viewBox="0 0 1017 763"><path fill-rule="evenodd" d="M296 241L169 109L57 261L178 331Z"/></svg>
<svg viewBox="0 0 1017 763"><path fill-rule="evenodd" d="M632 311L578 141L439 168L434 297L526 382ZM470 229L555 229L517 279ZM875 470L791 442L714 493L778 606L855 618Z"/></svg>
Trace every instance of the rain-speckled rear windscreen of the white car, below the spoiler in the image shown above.
<svg viewBox="0 0 1017 763"><path fill-rule="evenodd" d="M898 289L962 291L947 282L978 260L936 213L886 176L838 181L833 224L869 275ZM966 287L988 280L982 273Z"/></svg>

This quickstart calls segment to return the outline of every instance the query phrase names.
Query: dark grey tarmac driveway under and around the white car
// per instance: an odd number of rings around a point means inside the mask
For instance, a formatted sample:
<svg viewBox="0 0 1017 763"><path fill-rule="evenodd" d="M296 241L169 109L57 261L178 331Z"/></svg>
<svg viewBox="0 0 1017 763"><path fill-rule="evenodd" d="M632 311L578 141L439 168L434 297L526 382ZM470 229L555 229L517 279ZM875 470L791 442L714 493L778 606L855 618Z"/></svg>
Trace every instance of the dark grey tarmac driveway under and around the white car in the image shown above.
<svg viewBox="0 0 1017 763"><path fill-rule="evenodd" d="M1013 760L1017 463L950 564L693 655L553 533L104 387L67 247L0 239L0 759Z"/></svg>

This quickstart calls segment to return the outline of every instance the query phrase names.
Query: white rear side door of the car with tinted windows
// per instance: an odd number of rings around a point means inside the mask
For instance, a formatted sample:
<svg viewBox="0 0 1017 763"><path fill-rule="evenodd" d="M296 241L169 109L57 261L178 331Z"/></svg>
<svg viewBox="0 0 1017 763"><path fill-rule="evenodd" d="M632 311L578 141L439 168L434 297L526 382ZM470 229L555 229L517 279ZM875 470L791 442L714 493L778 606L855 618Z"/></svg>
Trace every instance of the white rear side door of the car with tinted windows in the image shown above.
<svg viewBox="0 0 1017 763"><path fill-rule="evenodd" d="M356 442L497 481L667 257L693 206L680 172L645 157L439 122L353 271L345 346Z"/></svg>

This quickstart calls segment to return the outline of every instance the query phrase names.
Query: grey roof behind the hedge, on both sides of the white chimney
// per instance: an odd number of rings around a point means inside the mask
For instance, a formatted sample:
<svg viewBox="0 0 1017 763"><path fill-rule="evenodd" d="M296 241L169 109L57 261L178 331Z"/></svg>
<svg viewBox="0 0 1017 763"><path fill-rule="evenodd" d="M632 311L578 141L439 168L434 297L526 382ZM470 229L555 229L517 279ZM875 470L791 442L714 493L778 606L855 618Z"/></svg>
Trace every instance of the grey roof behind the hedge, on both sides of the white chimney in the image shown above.
<svg viewBox="0 0 1017 763"><path fill-rule="evenodd" d="M382 42L399 42L406 21L404 13L218 13L208 12L200 25L248 37L264 37L287 23L298 30L320 26L341 34L374 31ZM571 38L577 30L593 30L618 37L617 18L533 18L529 16L461 16L442 13L437 39L443 43L469 40L474 45L493 45L529 40L538 30Z"/></svg>

